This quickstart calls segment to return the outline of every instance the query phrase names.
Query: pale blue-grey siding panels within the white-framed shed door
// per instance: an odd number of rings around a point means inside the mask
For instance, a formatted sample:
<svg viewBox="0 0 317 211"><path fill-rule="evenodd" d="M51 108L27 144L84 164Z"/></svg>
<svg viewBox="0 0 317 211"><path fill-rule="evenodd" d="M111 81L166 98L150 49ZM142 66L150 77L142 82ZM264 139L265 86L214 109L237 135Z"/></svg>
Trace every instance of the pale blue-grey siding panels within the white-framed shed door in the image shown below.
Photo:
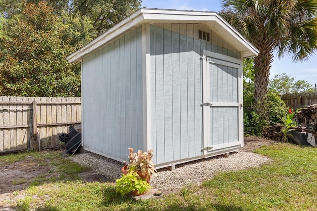
<svg viewBox="0 0 317 211"><path fill-rule="evenodd" d="M210 101L238 103L238 69L219 64L209 64ZM210 108L211 145L238 141L238 108Z"/></svg>

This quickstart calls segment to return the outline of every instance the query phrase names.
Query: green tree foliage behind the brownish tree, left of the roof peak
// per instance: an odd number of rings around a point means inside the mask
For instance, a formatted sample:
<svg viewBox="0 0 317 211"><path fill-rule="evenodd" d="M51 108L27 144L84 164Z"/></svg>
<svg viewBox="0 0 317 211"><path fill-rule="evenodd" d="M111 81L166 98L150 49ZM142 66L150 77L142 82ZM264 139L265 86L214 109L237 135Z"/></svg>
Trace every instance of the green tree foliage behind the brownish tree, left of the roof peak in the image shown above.
<svg viewBox="0 0 317 211"><path fill-rule="evenodd" d="M41 0L0 0L0 14L10 19L21 13L23 3L38 4L39 2ZM55 15L64 18L66 24L77 22L76 27L80 22L89 21L92 24L92 33L86 41L88 43L89 40L96 38L138 10L142 0L45 0L45 2L53 8ZM85 43L84 41L85 39L81 40L81 43Z"/></svg>

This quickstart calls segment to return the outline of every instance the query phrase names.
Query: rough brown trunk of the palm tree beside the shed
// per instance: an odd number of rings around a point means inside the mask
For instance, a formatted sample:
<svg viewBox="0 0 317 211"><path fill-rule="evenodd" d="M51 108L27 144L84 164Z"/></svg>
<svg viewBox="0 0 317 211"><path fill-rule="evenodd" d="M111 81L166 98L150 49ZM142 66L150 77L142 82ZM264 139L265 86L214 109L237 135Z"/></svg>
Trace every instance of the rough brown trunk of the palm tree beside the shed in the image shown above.
<svg viewBox="0 0 317 211"><path fill-rule="evenodd" d="M255 107L257 113L265 120L268 118L268 112L265 105L268 92L269 71L273 61L273 50L270 43L271 42L269 42L267 38L258 40L258 45L256 46L260 50L260 53L258 57L254 58Z"/></svg>

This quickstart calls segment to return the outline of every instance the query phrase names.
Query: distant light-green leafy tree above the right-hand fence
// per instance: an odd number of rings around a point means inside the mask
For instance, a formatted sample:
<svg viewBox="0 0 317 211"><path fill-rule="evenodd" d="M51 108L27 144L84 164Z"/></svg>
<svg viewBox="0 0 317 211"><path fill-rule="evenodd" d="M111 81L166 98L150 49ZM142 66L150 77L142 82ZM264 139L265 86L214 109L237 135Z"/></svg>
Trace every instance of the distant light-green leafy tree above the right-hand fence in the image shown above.
<svg viewBox="0 0 317 211"><path fill-rule="evenodd" d="M294 81L294 77L290 77L285 73L275 75L269 81L269 89L276 91L278 94L290 94L290 93L301 93L301 92L314 92L312 84L307 83L304 80Z"/></svg>

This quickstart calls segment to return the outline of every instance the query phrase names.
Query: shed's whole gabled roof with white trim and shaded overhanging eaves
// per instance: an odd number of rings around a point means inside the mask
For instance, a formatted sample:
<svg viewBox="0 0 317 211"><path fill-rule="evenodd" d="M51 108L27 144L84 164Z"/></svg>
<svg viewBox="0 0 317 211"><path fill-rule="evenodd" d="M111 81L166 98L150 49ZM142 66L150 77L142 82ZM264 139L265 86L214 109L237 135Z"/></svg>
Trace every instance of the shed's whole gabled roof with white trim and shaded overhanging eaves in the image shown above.
<svg viewBox="0 0 317 211"><path fill-rule="evenodd" d="M143 23L201 23L207 25L228 42L232 47L241 52L243 58L254 57L259 54L249 41L247 41L228 22L216 12L182 11L166 9L139 9L125 18L104 34L97 37L86 46L67 57L69 63L79 62L85 55L98 49L119 35L139 27Z"/></svg>

